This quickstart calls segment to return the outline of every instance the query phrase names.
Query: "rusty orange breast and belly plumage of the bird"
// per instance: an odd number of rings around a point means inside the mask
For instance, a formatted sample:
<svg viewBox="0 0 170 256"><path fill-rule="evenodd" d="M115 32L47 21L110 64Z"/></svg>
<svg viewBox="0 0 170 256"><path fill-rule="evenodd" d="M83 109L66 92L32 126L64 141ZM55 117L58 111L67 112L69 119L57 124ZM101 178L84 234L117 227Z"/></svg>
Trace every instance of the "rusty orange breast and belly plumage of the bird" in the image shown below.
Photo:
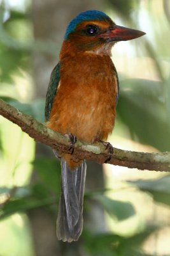
<svg viewBox="0 0 170 256"><path fill-rule="evenodd" d="M87 52L64 58L48 127L87 142L106 140L115 123L115 72L109 56Z"/></svg>

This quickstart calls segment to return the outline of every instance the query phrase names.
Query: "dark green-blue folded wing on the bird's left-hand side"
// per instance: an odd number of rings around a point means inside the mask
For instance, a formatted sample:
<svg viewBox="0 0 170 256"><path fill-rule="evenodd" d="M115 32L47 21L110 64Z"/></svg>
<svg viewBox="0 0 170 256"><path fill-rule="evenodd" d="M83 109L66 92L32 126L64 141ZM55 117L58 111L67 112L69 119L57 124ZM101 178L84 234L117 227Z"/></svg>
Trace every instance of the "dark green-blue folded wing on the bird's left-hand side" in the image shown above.
<svg viewBox="0 0 170 256"><path fill-rule="evenodd" d="M50 83L48 85L48 90L46 93L46 102L45 102L45 121L48 121L50 118L50 112L52 109L52 104L54 97L57 92L57 87L60 81L60 62L53 68L52 74L50 76Z"/></svg>

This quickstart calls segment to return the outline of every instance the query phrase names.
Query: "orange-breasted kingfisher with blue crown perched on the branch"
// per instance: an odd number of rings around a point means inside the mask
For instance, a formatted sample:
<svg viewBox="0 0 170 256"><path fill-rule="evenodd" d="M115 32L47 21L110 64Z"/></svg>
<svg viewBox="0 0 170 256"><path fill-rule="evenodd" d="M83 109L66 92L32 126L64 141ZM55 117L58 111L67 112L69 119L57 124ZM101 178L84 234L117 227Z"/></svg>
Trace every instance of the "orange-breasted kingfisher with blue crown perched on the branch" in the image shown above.
<svg viewBox="0 0 170 256"><path fill-rule="evenodd" d="M57 239L77 241L83 229L85 160L73 158L76 139L106 145L109 163L113 147L106 142L115 124L119 95L118 75L111 60L115 43L145 35L118 26L104 12L79 13L66 28L46 93L45 124L67 136L70 154L55 156L61 163L61 195L57 216Z"/></svg>

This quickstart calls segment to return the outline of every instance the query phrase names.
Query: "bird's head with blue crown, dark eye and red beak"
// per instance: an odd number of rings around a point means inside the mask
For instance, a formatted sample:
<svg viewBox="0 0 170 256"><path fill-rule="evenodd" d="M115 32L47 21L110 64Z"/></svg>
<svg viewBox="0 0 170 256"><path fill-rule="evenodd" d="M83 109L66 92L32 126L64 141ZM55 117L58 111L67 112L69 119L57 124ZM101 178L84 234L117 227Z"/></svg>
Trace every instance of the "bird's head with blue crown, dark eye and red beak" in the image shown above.
<svg viewBox="0 0 170 256"><path fill-rule="evenodd" d="M145 35L136 29L118 26L103 12L89 10L80 13L67 26L64 42L76 51L111 54L115 42L131 40Z"/></svg>

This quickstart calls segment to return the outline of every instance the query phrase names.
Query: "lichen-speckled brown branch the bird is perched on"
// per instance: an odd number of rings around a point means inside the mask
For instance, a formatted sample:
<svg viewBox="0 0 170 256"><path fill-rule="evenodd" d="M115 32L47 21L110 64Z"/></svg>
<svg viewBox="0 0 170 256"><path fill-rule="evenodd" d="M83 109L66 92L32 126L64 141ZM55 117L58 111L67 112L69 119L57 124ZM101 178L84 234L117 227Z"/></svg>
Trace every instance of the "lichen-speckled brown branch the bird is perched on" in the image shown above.
<svg viewBox="0 0 170 256"><path fill-rule="evenodd" d="M13 108L0 99L0 115L4 116L14 124L20 126L22 131L34 138L35 141L44 143L55 148L60 153L69 153L69 141L66 136L48 129L45 125L29 115L25 115L18 109ZM77 141L75 144L74 159L88 159L97 163L104 163L107 157L106 148L101 143L89 145L84 141ZM144 153L120 150L114 148L110 164L138 168L139 170L155 170L170 172L170 152Z"/></svg>

